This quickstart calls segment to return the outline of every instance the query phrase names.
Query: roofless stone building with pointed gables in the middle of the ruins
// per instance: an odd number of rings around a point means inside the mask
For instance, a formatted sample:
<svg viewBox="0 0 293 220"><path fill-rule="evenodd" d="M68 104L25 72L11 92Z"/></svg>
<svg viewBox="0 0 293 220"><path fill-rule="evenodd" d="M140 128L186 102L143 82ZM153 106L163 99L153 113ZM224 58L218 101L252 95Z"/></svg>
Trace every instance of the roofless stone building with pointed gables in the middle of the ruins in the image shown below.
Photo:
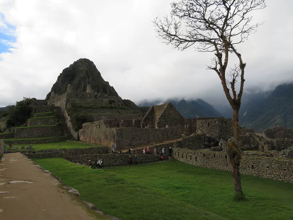
<svg viewBox="0 0 293 220"><path fill-rule="evenodd" d="M151 106L149 111L145 114L142 119L142 128L146 125L150 128L152 125L153 128L161 128L181 125L184 124L184 118L176 110L171 102L162 105Z"/></svg>

